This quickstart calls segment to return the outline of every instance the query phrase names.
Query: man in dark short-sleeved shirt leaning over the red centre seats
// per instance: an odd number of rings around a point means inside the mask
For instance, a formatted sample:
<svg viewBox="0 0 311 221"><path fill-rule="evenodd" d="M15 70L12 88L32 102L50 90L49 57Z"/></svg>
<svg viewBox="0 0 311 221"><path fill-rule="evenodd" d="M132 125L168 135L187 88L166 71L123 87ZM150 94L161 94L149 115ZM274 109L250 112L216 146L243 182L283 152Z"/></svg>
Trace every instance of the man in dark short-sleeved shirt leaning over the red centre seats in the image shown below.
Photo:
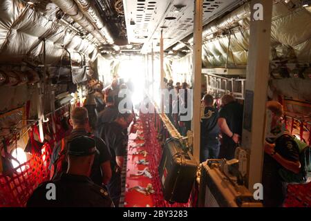
<svg viewBox="0 0 311 221"><path fill-rule="evenodd" d="M126 146L128 143L128 136L124 133L126 128L133 121L133 114L131 111L126 113L119 113L115 121L102 124L100 128L100 137L107 144L111 152L111 180L107 185L109 195L113 200L115 206L119 205L121 196L121 171L126 154Z"/></svg>

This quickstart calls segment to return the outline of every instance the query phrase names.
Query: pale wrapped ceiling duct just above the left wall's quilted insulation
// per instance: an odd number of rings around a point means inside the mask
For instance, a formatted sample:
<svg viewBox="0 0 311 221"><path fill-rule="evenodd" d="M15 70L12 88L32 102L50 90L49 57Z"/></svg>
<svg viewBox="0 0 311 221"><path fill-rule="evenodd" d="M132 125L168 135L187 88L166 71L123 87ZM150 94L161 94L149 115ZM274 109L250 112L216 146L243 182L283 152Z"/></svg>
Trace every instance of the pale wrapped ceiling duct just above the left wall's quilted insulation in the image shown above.
<svg viewBox="0 0 311 221"><path fill-rule="evenodd" d="M77 23L79 23L82 28L84 28L87 32L90 32L99 42L100 44L113 44L112 38L105 35L104 30L100 30L96 25L94 25L88 17L86 17L87 12L82 12L79 10L77 3L73 0L52 0L63 12L70 17ZM90 6L91 8L91 6ZM91 16L91 15L90 15ZM104 27L103 27L104 28ZM103 29L102 28L102 29ZM107 33L106 33L107 34Z"/></svg>

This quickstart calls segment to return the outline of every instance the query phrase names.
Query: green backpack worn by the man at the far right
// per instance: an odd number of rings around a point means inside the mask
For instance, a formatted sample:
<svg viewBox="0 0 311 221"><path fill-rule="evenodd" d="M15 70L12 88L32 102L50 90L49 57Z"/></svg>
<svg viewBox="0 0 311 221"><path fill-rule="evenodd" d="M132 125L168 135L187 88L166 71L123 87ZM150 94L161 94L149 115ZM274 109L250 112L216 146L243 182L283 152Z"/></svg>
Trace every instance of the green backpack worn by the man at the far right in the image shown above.
<svg viewBox="0 0 311 221"><path fill-rule="evenodd" d="M288 182L290 184L305 184L310 182L311 178L311 146L305 144L298 138L292 135L290 136L294 143L296 144L296 148L299 150L299 162L301 164L301 169L299 173L294 173L289 171L288 169L279 169L279 175L283 179L284 182Z"/></svg>

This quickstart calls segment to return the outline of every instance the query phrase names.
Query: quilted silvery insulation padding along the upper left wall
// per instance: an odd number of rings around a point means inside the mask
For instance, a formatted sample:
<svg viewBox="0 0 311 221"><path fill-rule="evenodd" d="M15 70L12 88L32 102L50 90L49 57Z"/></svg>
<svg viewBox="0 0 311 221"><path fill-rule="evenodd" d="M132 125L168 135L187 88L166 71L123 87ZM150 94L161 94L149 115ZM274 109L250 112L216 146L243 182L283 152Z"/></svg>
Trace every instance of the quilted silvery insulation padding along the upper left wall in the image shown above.
<svg viewBox="0 0 311 221"><path fill-rule="evenodd" d="M42 64L44 46L46 64L52 66L59 64L64 48L80 52L92 62L98 55L97 40L91 34L84 38L76 35L79 30L75 27L68 28L62 21L55 23L20 0L0 1L0 23L0 64L20 66L25 62L36 68Z"/></svg>

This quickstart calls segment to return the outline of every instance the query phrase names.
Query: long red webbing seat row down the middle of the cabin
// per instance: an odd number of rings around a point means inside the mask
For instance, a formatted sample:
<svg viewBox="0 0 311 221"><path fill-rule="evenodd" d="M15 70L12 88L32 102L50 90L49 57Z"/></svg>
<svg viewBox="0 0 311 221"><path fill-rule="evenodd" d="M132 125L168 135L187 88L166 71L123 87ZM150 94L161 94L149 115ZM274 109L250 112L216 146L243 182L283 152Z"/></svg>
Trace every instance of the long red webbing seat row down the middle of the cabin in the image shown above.
<svg viewBox="0 0 311 221"><path fill-rule="evenodd" d="M149 119L142 116L142 121L139 120L135 127L138 129L138 133L142 133L141 137L145 140L134 140L129 141L128 146L128 158L127 158L127 170L126 170L126 192L124 193L124 206L125 207L184 207L189 206L189 204L169 204L163 199L162 189L160 185L160 178L158 175L158 165L160 163L160 158L162 155L162 147L156 139L157 132L153 124L150 123L151 128L146 125L146 121ZM135 146L136 144L145 143L144 146L138 148L130 148L130 146ZM136 164L138 160L143 160L143 155L133 155L135 152L147 151L146 160L149 161L149 165ZM134 177L133 174L142 171L145 167L149 168L149 172L153 176L152 179L149 177L144 177L143 175ZM134 186L146 187L148 184L152 184L154 193L151 195L144 195L138 191L129 189Z"/></svg>

